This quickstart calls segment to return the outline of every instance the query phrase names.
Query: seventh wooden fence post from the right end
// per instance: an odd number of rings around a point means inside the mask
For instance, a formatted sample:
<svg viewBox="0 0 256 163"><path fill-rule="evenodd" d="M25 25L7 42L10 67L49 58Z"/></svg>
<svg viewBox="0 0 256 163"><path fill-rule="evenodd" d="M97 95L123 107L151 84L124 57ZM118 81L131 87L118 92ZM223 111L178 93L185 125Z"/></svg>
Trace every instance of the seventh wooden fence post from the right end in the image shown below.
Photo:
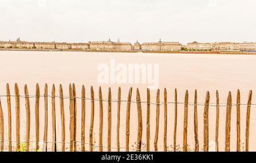
<svg viewBox="0 0 256 163"><path fill-rule="evenodd" d="M188 90L185 94L184 102L184 128L183 128L183 152L187 152L188 147Z"/></svg>

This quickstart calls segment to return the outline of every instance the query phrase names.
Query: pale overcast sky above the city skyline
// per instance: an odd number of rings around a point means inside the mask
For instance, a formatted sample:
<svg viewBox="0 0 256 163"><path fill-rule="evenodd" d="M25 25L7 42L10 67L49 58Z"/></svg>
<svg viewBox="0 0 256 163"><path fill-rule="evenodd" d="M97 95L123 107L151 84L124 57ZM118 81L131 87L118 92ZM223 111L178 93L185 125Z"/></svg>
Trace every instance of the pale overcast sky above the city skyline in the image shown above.
<svg viewBox="0 0 256 163"><path fill-rule="evenodd" d="M0 40L256 42L255 0L0 2Z"/></svg>

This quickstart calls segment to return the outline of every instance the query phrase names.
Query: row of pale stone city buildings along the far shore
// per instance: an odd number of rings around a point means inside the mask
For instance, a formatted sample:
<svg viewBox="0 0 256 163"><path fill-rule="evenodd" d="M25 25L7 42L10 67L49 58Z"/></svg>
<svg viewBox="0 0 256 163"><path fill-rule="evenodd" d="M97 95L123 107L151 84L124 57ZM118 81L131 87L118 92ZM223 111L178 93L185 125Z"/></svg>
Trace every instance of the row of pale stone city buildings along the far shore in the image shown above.
<svg viewBox="0 0 256 163"><path fill-rule="evenodd" d="M256 43L234 43L234 42L215 42L198 43L193 41L187 45L179 42L162 41L151 43L134 44L130 42L117 41L88 41L88 43L67 43L67 42L38 42L22 41L18 37L16 41L0 41L0 49L59 49L59 50L91 50L91 51L215 51L215 52L256 52Z"/></svg>

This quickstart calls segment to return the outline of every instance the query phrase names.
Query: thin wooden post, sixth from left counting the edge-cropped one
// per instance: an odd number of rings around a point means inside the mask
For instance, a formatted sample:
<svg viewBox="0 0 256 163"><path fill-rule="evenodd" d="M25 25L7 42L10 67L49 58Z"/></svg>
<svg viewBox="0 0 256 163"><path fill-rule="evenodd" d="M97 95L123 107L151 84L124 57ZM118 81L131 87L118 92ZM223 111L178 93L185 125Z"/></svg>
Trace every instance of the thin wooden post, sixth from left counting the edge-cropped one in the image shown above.
<svg viewBox="0 0 256 163"><path fill-rule="evenodd" d="M48 86L44 85L44 144L43 151L47 152L47 137L48 137Z"/></svg>

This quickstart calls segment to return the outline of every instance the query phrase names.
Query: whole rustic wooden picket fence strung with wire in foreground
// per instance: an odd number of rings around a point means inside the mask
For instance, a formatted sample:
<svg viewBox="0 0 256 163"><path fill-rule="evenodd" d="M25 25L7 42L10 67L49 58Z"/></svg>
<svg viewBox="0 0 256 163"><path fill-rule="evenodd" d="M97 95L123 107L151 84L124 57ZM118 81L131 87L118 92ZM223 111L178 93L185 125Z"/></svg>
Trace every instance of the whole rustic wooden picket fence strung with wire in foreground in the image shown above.
<svg viewBox="0 0 256 163"><path fill-rule="evenodd" d="M28 94L28 87L27 85L24 86L24 96L20 95L19 87L15 83L15 95L10 95L10 88L9 84L7 83L6 85L6 95L1 95L1 97L6 97L7 98L7 111L8 111L8 140L5 140L5 124L4 124L4 117L3 117L3 109L1 105L1 98L0 98L0 128L1 128L1 151L20 151L20 98L24 98L26 101L26 137L24 143L26 143L26 150L25 151L30 151L30 125L31 125L31 115L30 115L30 99L32 98ZM120 128L120 110L121 110L121 102L126 102L127 103L127 108L126 108L126 151L129 151L130 147L130 109L131 109L131 95L132 95L133 89L130 88L128 96L127 96L127 101L122 101L121 100L121 88L119 87L118 89L118 99L117 101L117 151L120 151L120 137L119 137L119 128ZM136 143L136 150L141 151L142 148L142 131L143 131L143 124L142 124L142 106L141 106L141 96L139 93L139 89L137 89L137 100L135 103L137 103L137 111L138 111L138 135L137 135L137 143ZM13 116L11 114L11 97L15 97L15 115ZM36 84L36 95L34 96L35 98L35 143L36 143L36 150L39 149L39 99L44 98L44 136L43 136L43 142L44 142L44 149L45 151L47 150L47 143L48 143L48 99L51 99L51 107L52 107L52 112L51 112L51 119L52 119L52 147L51 151L56 151L56 135L60 133L56 133L56 107L55 107L55 98L60 99L60 114L61 114L61 151L65 151L65 116L64 116L64 96L63 96L63 87L60 85L59 87L59 95L56 95L55 93L55 85L52 86L52 91L51 95L48 94L48 86L47 84L45 85L44 89L44 94L40 95L40 90L39 90L39 85ZM155 127L155 137L154 137L154 151L158 151L158 134L159 134L159 121L162 120L159 118L159 109L160 105L160 91L157 90L156 94L156 127ZM77 140L77 98L81 99L81 140ZM174 95L175 101L173 102L174 104L174 109L175 109L175 118L174 118L174 151L176 151L176 138L177 138L177 90L175 89L175 95ZM94 102L96 101L94 99L94 89L93 87L90 88L90 98L85 97L85 87L82 86L82 91L81 91L81 97L77 97L76 95L76 87L75 85L69 85L69 115L70 115L70 140L69 140L69 150L70 151L77 151L77 143L81 143L81 151L85 152L85 101L89 100L91 103L91 112L90 112L90 128L89 128L89 151L93 151L93 126L94 126ZM206 94L205 97L205 103L204 103L204 146L203 146L203 151L209 151L209 99L210 99L210 94L209 91ZM247 115L246 115L246 141L245 141L245 150L249 151L249 127L250 127L250 108L251 108L251 99L252 99L252 91L249 92L249 98L247 101ZM102 99L102 92L101 92L101 87L99 89L99 98L97 100L99 102L100 106L100 126L99 126L99 140L98 140L98 147L99 151L102 152L103 149L102 147L102 128L103 128L103 105L102 102L104 99ZM112 92L111 89L109 88L108 91L108 146L107 149L108 151L112 151ZM151 108L151 99L150 99L150 90L147 89L147 115L146 115L146 151L150 151L150 108ZM187 140L188 140L188 91L185 93L185 98L184 98L184 125L183 125L183 151L186 152L188 151L187 149ZM167 151L167 90L164 89L164 151ZM192 104L194 106L194 131L195 131L195 151L199 151L199 132L198 132L198 127L197 127L197 91L195 90L195 102ZM227 103L226 103L226 123L225 123L225 151L229 152L230 151L230 122L231 122L231 113L232 113L232 107L236 106L237 107L237 151L241 151L241 131L240 131L240 90L237 91L237 103L236 105L232 105L232 94L229 92ZM220 102L219 102L219 96L218 96L218 91L216 91L216 132L215 132L215 142L216 142L216 152L219 151L219 146L218 146L218 133L219 133L219 122L220 122ZM12 137L12 118L16 119L16 139L13 141L11 139ZM13 149L12 143L16 143L16 148ZM8 150L4 149L4 145L8 144Z"/></svg>

